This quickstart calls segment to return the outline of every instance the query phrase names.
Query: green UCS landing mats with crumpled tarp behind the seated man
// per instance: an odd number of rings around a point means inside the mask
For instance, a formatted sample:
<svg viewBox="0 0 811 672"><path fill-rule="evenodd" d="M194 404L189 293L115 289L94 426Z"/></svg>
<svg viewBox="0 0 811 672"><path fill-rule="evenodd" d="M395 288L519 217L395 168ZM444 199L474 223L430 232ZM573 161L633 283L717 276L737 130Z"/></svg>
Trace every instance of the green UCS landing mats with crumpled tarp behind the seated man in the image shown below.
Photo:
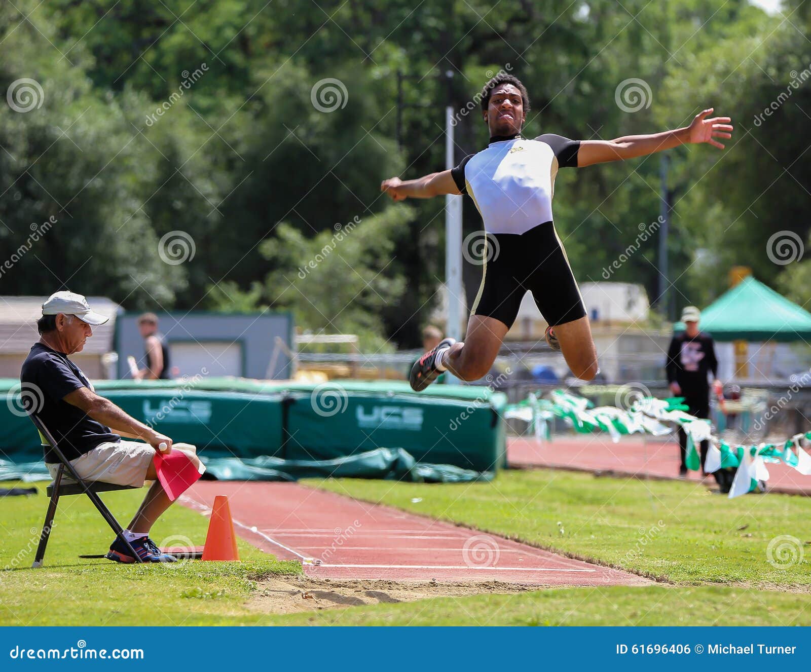
<svg viewBox="0 0 811 672"><path fill-rule="evenodd" d="M319 470L338 467L341 475L354 469L358 477L408 472L410 480L453 481L506 466L507 399L487 387L441 385L415 394L399 381L94 384L133 417L175 441L194 443L210 473L221 478L284 479L311 469L326 476ZM0 404L0 456L12 463L0 464L0 477L3 469L6 477L19 474L20 463L40 455L28 417L11 412L17 386L0 380L0 392L10 400ZM410 467L404 472L405 456Z"/></svg>

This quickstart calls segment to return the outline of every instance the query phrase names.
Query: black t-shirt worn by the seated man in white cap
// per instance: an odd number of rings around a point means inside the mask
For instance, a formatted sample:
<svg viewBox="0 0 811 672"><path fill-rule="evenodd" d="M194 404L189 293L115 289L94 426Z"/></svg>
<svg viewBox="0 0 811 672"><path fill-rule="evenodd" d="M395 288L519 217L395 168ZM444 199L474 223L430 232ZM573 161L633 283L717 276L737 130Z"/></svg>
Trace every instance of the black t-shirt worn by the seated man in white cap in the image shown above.
<svg viewBox="0 0 811 672"><path fill-rule="evenodd" d="M96 422L82 409L68 404L64 397L79 387L92 390L92 385L67 355L47 345L35 343L23 362L19 373L23 392L30 391L24 399L35 404L33 409L51 434L54 434L62 453L68 460L75 460L92 451L100 443L120 441L109 427ZM30 409L30 405L28 406ZM45 449L45 462L59 460L49 448Z"/></svg>

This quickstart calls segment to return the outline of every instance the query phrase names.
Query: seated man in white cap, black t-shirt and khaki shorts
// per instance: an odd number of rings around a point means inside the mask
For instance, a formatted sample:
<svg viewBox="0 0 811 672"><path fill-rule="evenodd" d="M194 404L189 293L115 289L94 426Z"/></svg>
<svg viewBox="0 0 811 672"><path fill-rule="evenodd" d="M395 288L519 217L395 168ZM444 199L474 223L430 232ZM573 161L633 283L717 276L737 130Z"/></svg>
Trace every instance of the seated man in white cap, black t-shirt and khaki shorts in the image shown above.
<svg viewBox="0 0 811 672"><path fill-rule="evenodd" d="M161 443L170 449L172 439L98 396L79 367L68 359L84 348L92 336L91 327L107 319L90 310L83 296L71 292L57 292L42 304L42 317L36 322L41 337L32 345L19 375L23 390L33 392L28 400L35 399L32 403L36 407L29 407L28 413L41 418L80 477L133 487L153 481L124 536L142 562L174 562L173 556L161 553L149 538L152 524L171 504L157 480L152 457ZM122 441L122 436L146 443ZM200 465L197 456L190 455L190 459ZM58 458L49 449L45 464L55 477ZM119 537L106 557L118 563L135 562Z"/></svg>

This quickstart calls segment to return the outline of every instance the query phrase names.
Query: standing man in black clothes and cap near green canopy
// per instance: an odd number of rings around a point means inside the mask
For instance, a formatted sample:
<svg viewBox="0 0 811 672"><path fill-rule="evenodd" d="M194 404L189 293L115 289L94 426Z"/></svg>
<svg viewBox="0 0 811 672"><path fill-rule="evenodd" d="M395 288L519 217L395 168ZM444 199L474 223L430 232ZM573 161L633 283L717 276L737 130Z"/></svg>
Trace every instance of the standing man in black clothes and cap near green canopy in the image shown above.
<svg viewBox="0 0 811 672"><path fill-rule="evenodd" d="M696 306L687 306L681 313L684 332L673 336L667 351L667 383L674 396L683 396L684 404L689 406L690 415L710 417L710 383L707 374L711 373L714 383L717 382L718 360L715 358L715 347L712 336L699 331L698 321L701 311ZM681 465L679 475L687 475L684 459L687 452L687 434L679 428L679 447ZM708 441L702 441L702 472Z"/></svg>

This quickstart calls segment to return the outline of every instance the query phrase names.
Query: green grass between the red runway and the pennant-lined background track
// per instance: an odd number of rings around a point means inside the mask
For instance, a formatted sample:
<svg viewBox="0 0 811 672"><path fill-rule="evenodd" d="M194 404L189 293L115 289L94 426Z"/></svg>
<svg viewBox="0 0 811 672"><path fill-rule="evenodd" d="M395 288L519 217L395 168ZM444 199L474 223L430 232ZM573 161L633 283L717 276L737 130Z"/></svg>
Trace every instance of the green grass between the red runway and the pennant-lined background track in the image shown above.
<svg viewBox="0 0 811 672"><path fill-rule="evenodd" d="M806 497L727 499L689 482L551 470L508 471L491 483L441 486L350 479L310 483L678 584L811 587L811 499ZM412 503L416 498L421 501ZM769 563L767 549L783 534L798 539L792 548L804 559L779 568Z"/></svg>

